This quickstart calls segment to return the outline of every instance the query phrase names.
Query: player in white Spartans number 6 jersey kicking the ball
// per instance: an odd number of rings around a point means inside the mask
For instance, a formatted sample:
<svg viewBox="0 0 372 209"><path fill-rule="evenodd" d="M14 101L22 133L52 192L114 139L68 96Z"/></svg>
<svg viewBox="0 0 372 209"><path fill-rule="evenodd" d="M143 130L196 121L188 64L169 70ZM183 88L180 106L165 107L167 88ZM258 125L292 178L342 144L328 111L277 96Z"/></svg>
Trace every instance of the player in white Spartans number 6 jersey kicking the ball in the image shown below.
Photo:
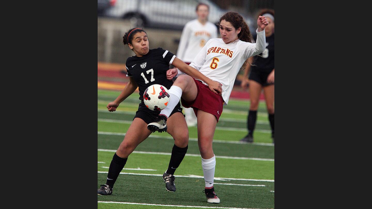
<svg viewBox="0 0 372 209"><path fill-rule="evenodd" d="M259 16L257 40L253 38L247 23L236 12L228 12L219 19L221 38L210 39L196 55L190 65L175 58L172 65L187 75L177 77L169 89L170 101L161 110L159 117L149 123L150 131L163 129L174 106L181 99L184 107L192 107L198 118L198 145L202 157L202 168L205 180L205 195L208 203L219 203L214 192L214 172L216 159L212 141L223 105L228 104L232 86L238 71L248 57L262 53L266 48L266 17ZM198 73L202 73L201 76ZM180 72L172 68L167 71L171 79ZM195 79L196 78L196 79ZM215 87L217 81L221 89Z"/></svg>

